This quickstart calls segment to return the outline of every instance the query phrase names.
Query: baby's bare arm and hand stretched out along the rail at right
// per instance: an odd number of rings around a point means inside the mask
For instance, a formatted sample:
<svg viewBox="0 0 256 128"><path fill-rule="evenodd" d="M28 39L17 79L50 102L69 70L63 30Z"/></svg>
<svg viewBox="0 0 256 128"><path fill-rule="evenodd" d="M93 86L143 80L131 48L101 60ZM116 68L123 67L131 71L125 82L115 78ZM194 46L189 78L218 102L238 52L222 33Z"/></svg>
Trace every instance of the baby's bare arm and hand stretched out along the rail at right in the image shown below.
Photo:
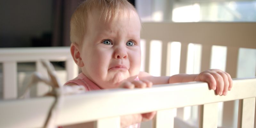
<svg viewBox="0 0 256 128"><path fill-rule="evenodd" d="M209 87L216 90L219 95L227 95L228 90L232 88L231 76L219 69L210 69L201 72L200 74L177 74L173 76L151 76L146 72L140 72L140 79L147 79L153 84L168 84L168 83L181 83L191 81L203 81L209 84Z"/></svg>

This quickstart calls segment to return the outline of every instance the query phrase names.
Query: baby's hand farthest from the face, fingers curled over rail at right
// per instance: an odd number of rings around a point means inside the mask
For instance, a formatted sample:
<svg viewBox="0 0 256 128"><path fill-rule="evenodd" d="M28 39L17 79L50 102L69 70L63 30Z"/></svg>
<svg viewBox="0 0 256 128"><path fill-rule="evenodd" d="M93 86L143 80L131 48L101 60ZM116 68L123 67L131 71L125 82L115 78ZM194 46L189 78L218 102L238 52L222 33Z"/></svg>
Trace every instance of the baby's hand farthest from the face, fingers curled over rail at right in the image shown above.
<svg viewBox="0 0 256 128"><path fill-rule="evenodd" d="M210 88L216 90L219 95L227 95L233 84L231 76L219 69L205 70L196 76L195 81L207 82Z"/></svg>

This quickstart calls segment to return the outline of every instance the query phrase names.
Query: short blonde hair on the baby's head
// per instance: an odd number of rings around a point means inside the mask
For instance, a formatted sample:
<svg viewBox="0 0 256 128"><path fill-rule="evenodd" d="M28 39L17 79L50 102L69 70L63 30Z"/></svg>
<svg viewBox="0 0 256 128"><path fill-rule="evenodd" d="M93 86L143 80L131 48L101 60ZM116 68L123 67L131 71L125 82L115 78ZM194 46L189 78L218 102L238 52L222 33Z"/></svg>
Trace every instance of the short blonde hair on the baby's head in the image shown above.
<svg viewBox="0 0 256 128"><path fill-rule="evenodd" d="M101 18L108 22L115 20L118 16L124 15L127 11L136 9L127 0L85 0L73 13L70 21L71 43L81 44L86 33L88 14L91 11L101 12ZM137 12L136 12L137 13ZM129 15L129 13L128 13Z"/></svg>

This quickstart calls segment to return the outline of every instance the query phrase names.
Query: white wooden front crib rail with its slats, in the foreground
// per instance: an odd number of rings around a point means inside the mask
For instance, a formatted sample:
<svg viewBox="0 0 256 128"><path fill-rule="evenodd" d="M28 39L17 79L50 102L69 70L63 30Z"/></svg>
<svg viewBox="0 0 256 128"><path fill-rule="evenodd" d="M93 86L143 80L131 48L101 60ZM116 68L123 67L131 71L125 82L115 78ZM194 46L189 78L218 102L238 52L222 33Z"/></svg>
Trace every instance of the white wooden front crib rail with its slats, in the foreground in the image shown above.
<svg viewBox="0 0 256 128"><path fill-rule="evenodd" d="M233 79L227 96L215 95L202 82L156 85L147 89L112 89L65 96L58 125L97 121L96 128L119 128L121 115L157 111L156 128L173 127L172 108L202 105L200 128L217 127L217 102L239 102L239 128L254 125L256 77ZM43 127L53 97L0 100L0 127ZM142 102L143 101L143 102ZM167 120L166 120L167 119ZM170 127L168 127L170 128Z"/></svg>

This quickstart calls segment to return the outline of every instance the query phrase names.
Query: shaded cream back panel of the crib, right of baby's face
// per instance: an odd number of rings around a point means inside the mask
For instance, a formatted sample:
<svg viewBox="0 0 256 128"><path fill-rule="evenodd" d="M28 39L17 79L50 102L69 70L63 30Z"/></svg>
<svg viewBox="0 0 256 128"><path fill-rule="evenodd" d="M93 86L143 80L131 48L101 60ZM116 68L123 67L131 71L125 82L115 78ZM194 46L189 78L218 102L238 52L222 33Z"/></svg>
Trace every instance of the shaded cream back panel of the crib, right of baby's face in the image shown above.
<svg viewBox="0 0 256 128"><path fill-rule="evenodd" d="M142 39L149 41L160 40L163 41L163 46L166 45L166 42L175 41L181 43L179 73L188 73L187 66L191 64L188 63L189 43L196 43L202 46L202 54L199 57L201 58L200 71L211 68L213 45L227 46L226 72L232 78L237 77L239 48L256 48L255 37L253 36L253 33L256 33L256 23L143 23L143 26ZM168 56L168 50L163 47L162 55L167 54ZM147 58L150 58L149 54L146 55L149 56L146 56ZM168 76L170 60L165 61L164 58L166 57L162 58L161 75ZM165 66L166 63L167 67ZM223 126L236 126L234 124L237 122L235 105L236 101L224 102ZM184 108L178 108L177 115L179 117L184 118L184 113Z"/></svg>

